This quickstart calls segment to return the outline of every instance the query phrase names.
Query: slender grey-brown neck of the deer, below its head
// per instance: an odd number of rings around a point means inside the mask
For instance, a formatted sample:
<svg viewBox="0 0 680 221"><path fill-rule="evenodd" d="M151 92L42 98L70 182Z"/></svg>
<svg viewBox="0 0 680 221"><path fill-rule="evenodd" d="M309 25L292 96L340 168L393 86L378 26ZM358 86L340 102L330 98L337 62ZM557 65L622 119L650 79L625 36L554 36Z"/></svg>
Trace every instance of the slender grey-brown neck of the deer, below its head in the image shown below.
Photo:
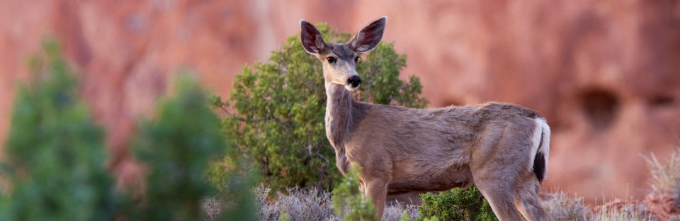
<svg viewBox="0 0 680 221"><path fill-rule="evenodd" d="M342 142L348 137L352 123L352 105L354 100L350 91L344 86L326 83L326 135L336 149L342 148Z"/></svg>

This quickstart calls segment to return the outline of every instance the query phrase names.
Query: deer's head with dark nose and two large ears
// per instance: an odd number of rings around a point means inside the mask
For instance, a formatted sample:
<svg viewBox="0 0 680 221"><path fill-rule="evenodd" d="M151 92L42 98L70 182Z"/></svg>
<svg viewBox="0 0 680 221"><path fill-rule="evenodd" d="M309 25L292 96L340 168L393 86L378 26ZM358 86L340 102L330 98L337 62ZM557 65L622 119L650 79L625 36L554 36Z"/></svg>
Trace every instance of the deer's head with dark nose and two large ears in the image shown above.
<svg viewBox="0 0 680 221"><path fill-rule="evenodd" d="M378 45L385 23L387 17L383 16L361 28L348 42L327 44L316 27L300 20L300 40L305 50L323 63L327 83L344 85L353 91L361 84L361 77L355 69L358 53L368 52Z"/></svg>

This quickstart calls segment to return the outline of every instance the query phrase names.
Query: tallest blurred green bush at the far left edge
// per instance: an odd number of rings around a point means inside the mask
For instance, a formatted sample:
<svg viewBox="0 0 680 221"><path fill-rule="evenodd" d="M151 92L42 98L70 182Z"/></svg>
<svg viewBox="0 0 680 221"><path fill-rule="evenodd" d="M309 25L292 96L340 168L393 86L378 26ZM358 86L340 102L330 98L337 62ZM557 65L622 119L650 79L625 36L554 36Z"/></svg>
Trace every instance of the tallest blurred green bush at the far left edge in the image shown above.
<svg viewBox="0 0 680 221"><path fill-rule="evenodd" d="M53 40L31 60L16 95L2 165L0 220L111 220L123 197L106 171L103 130Z"/></svg>

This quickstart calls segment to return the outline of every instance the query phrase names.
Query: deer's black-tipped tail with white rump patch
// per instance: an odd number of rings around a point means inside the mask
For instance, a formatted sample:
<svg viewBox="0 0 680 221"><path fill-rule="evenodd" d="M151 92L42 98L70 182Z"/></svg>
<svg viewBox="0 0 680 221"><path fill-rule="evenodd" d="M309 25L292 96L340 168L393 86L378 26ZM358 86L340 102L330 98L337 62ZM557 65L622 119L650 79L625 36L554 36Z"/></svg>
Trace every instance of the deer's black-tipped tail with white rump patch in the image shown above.
<svg viewBox="0 0 680 221"><path fill-rule="evenodd" d="M531 164L529 169L536 174L538 182L545 179L548 171L548 157L550 153L550 127L543 118L535 118L536 128L533 130L531 143Z"/></svg>

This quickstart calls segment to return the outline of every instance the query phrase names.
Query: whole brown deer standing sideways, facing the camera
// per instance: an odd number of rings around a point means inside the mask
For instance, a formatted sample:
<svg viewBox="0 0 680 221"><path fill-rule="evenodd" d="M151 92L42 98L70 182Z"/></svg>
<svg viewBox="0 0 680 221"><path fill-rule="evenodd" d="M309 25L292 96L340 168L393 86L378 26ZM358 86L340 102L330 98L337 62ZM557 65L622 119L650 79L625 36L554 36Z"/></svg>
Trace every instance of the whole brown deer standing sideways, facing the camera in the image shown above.
<svg viewBox="0 0 680 221"><path fill-rule="evenodd" d="M538 113L510 103L416 109L354 101L361 84L358 53L373 50L387 17L351 40L327 44L300 21L302 46L324 67L326 135L345 174L363 168L361 188L378 215L399 191L447 191L474 183L499 220L552 220L538 197L550 149L550 128Z"/></svg>

